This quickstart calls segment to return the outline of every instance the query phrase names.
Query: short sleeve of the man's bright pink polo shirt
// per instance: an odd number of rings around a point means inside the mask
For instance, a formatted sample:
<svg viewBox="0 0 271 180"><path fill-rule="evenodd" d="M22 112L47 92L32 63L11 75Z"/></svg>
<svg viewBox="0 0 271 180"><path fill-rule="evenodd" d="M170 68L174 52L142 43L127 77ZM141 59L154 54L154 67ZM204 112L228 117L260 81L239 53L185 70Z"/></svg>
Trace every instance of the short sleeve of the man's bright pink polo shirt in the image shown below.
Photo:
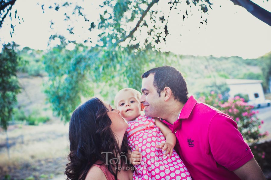
<svg viewBox="0 0 271 180"><path fill-rule="evenodd" d="M216 114L208 128L210 151L216 162L230 171L247 163L253 154L235 121L225 114Z"/></svg>

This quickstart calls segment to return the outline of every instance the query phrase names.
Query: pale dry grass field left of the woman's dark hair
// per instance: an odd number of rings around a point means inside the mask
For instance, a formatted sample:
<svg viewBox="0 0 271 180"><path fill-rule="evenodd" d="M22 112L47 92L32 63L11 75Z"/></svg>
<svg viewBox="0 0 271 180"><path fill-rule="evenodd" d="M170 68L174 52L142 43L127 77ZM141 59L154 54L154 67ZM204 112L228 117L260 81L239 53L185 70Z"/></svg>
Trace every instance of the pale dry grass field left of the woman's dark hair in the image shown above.
<svg viewBox="0 0 271 180"><path fill-rule="evenodd" d="M10 158L7 148L0 148L0 176L11 175L39 179L41 174L63 174L64 164L69 152L68 124L43 124L40 126L10 126L9 139L21 137L10 147ZM23 140L23 141L22 141ZM6 142L6 133L0 132L0 144ZM13 143L10 141L9 143ZM49 167L47 167L49 165ZM28 172L25 172L28 171ZM19 174L25 174L22 177Z"/></svg>

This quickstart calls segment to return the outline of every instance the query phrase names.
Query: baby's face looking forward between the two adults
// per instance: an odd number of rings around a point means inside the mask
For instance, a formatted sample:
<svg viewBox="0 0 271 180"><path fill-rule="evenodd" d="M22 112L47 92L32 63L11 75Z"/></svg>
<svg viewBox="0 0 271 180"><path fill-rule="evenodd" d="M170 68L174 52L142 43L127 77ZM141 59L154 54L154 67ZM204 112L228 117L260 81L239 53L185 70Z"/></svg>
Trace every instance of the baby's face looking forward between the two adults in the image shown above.
<svg viewBox="0 0 271 180"><path fill-rule="evenodd" d="M136 93L128 90L123 91L116 97L117 109L126 121L133 121L140 115L141 105Z"/></svg>

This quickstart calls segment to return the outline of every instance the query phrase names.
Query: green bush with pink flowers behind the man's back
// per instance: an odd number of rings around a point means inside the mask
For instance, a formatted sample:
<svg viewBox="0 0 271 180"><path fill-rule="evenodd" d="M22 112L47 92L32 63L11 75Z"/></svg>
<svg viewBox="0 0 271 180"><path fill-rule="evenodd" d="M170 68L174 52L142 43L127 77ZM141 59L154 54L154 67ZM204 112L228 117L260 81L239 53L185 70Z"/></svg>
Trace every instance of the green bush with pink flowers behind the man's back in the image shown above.
<svg viewBox="0 0 271 180"><path fill-rule="evenodd" d="M243 135L246 142L254 144L268 134L260 133L263 121L256 116L258 111L253 110L253 106L248 105L243 98L235 96L229 98L228 101L222 100L221 94L216 94L213 91L208 96L201 96L199 101L211 105L225 114L228 114L238 125L238 130Z"/></svg>

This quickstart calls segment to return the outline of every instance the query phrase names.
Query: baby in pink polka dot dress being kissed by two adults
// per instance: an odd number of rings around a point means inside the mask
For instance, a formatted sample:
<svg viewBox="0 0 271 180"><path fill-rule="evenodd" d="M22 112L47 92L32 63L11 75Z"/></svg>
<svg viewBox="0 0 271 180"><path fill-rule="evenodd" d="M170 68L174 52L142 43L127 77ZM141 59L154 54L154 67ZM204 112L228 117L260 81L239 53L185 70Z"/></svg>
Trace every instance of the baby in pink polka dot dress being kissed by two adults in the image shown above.
<svg viewBox="0 0 271 180"><path fill-rule="evenodd" d="M191 176L173 149L176 136L158 119L141 115L141 93L132 88L120 90L115 107L128 122L127 139L132 149L131 162L135 166L133 179L186 179Z"/></svg>

